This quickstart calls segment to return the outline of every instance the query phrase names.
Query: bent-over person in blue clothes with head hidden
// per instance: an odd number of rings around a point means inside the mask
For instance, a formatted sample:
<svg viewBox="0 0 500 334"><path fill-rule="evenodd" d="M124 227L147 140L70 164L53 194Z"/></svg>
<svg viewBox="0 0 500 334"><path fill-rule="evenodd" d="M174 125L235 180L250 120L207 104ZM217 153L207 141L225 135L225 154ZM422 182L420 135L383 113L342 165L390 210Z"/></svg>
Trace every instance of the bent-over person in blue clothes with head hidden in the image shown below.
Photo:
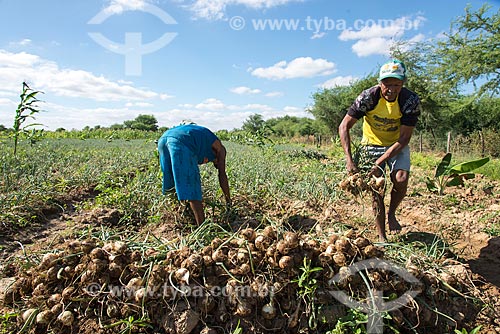
<svg viewBox="0 0 500 334"><path fill-rule="evenodd" d="M185 124L173 127L158 140L163 193L176 191L180 201L189 201L197 224L205 221L201 177L198 165L213 162L219 171L219 185L231 204L226 174L226 148L209 129Z"/></svg>

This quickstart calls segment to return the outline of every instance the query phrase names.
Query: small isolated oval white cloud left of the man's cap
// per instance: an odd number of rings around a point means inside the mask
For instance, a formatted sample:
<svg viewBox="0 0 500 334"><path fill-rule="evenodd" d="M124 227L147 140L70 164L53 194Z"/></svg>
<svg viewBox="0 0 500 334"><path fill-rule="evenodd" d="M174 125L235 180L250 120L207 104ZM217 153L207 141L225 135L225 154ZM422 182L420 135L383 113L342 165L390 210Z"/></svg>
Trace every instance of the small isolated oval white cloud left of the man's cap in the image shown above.
<svg viewBox="0 0 500 334"><path fill-rule="evenodd" d="M335 73L335 64L325 59L312 59L311 57L299 57L290 63L280 61L271 67L257 68L251 71L252 75L272 80L311 78L315 76L330 75Z"/></svg>

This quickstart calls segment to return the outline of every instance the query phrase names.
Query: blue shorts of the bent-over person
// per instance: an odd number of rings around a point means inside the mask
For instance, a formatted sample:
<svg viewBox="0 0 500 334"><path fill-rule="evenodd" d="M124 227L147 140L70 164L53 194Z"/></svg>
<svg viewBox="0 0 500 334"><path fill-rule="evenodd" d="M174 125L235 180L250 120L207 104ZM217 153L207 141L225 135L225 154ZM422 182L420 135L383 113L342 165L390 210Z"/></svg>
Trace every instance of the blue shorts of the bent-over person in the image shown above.
<svg viewBox="0 0 500 334"><path fill-rule="evenodd" d="M202 199L200 169L195 154L175 138L158 140L163 193L177 192L180 201Z"/></svg>

